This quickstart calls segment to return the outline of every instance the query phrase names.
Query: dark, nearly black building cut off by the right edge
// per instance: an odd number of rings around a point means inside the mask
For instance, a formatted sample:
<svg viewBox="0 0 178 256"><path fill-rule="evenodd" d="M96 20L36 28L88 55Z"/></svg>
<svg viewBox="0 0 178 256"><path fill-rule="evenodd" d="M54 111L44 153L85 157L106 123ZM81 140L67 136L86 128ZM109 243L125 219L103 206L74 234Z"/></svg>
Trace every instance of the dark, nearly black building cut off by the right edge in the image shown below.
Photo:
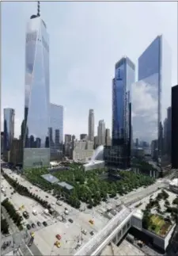
<svg viewBox="0 0 178 256"><path fill-rule="evenodd" d="M178 169L178 85L172 87L172 168Z"/></svg>

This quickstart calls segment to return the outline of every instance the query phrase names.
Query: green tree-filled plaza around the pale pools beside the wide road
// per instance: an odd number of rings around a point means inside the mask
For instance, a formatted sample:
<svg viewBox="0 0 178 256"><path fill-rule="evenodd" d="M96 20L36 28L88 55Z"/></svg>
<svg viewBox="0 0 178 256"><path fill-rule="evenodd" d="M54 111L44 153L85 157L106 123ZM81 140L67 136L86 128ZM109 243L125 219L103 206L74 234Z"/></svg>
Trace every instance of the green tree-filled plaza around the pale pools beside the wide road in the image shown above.
<svg viewBox="0 0 178 256"><path fill-rule="evenodd" d="M101 178L102 175L108 174L106 169L85 172L83 166L70 166L70 170L52 173L59 181L73 185L72 193L66 194L59 185L51 184L40 177L47 173L45 168L25 170L26 178L33 185L37 185L41 189L53 190L56 197L63 196L67 203L76 204L78 207L81 201L85 202L89 208L97 206L101 201L107 201L108 197L116 197L117 194L123 196L141 186L151 185L155 181L149 176L134 174L132 171L118 171L120 180L110 182Z"/></svg>

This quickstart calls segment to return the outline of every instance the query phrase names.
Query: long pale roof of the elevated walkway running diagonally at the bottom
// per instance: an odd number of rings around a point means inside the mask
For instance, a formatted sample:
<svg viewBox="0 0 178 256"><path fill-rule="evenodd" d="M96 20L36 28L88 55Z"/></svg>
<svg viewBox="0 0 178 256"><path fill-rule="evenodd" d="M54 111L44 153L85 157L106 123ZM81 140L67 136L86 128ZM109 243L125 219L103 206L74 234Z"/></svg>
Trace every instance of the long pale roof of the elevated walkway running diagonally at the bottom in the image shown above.
<svg viewBox="0 0 178 256"><path fill-rule="evenodd" d="M112 220L110 220L108 224L93 237L93 239L90 239L88 243L85 243L85 245L81 247L81 250L78 250L74 256L92 255L93 252L97 250L97 247L104 243L104 240L112 234L112 231L114 231L119 224L122 224L129 215L131 215L131 210L122 205L121 211L118 212L118 214L114 216Z"/></svg>

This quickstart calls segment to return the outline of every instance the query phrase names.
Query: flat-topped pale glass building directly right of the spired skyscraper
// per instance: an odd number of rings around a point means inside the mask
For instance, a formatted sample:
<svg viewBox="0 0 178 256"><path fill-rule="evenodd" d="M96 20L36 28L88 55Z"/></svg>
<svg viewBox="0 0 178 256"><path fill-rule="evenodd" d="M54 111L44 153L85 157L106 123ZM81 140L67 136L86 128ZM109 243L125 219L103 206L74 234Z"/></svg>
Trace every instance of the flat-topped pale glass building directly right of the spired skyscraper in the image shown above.
<svg viewBox="0 0 178 256"><path fill-rule="evenodd" d="M63 148L63 106L50 104L49 142L51 159L57 160L62 156Z"/></svg>

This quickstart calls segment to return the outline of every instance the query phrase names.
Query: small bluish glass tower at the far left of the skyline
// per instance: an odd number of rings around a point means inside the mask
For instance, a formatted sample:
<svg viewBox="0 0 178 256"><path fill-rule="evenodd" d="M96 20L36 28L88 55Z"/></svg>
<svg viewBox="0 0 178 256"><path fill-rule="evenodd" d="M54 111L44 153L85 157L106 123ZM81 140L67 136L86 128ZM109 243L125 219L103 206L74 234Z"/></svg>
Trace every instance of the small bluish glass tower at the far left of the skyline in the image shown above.
<svg viewBox="0 0 178 256"><path fill-rule="evenodd" d="M4 109L3 151L9 151L14 138L14 109Z"/></svg>

